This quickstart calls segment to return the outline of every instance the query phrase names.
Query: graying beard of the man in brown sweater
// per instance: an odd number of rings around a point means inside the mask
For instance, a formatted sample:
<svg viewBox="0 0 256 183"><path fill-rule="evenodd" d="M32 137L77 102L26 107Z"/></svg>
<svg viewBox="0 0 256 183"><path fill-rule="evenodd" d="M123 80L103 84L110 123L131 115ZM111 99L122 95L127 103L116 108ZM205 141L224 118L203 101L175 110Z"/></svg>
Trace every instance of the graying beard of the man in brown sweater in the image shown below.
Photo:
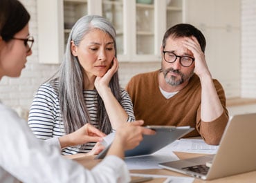
<svg viewBox="0 0 256 183"><path fill-rule="evenodd" d="M163 66L161 70L163 71L163 76L165 77L166 83L170 84L171 86L179 86L180 84L183 84L185 81L188 81L188 79L190 79L190 77L194 75L194 69L188 75L181 73L180 70L174 70L173 68L163 69ZM171 77L167 77L167 74L170 72L180 75L181 78L178 79L178 77L173 75Z"/></svg>

